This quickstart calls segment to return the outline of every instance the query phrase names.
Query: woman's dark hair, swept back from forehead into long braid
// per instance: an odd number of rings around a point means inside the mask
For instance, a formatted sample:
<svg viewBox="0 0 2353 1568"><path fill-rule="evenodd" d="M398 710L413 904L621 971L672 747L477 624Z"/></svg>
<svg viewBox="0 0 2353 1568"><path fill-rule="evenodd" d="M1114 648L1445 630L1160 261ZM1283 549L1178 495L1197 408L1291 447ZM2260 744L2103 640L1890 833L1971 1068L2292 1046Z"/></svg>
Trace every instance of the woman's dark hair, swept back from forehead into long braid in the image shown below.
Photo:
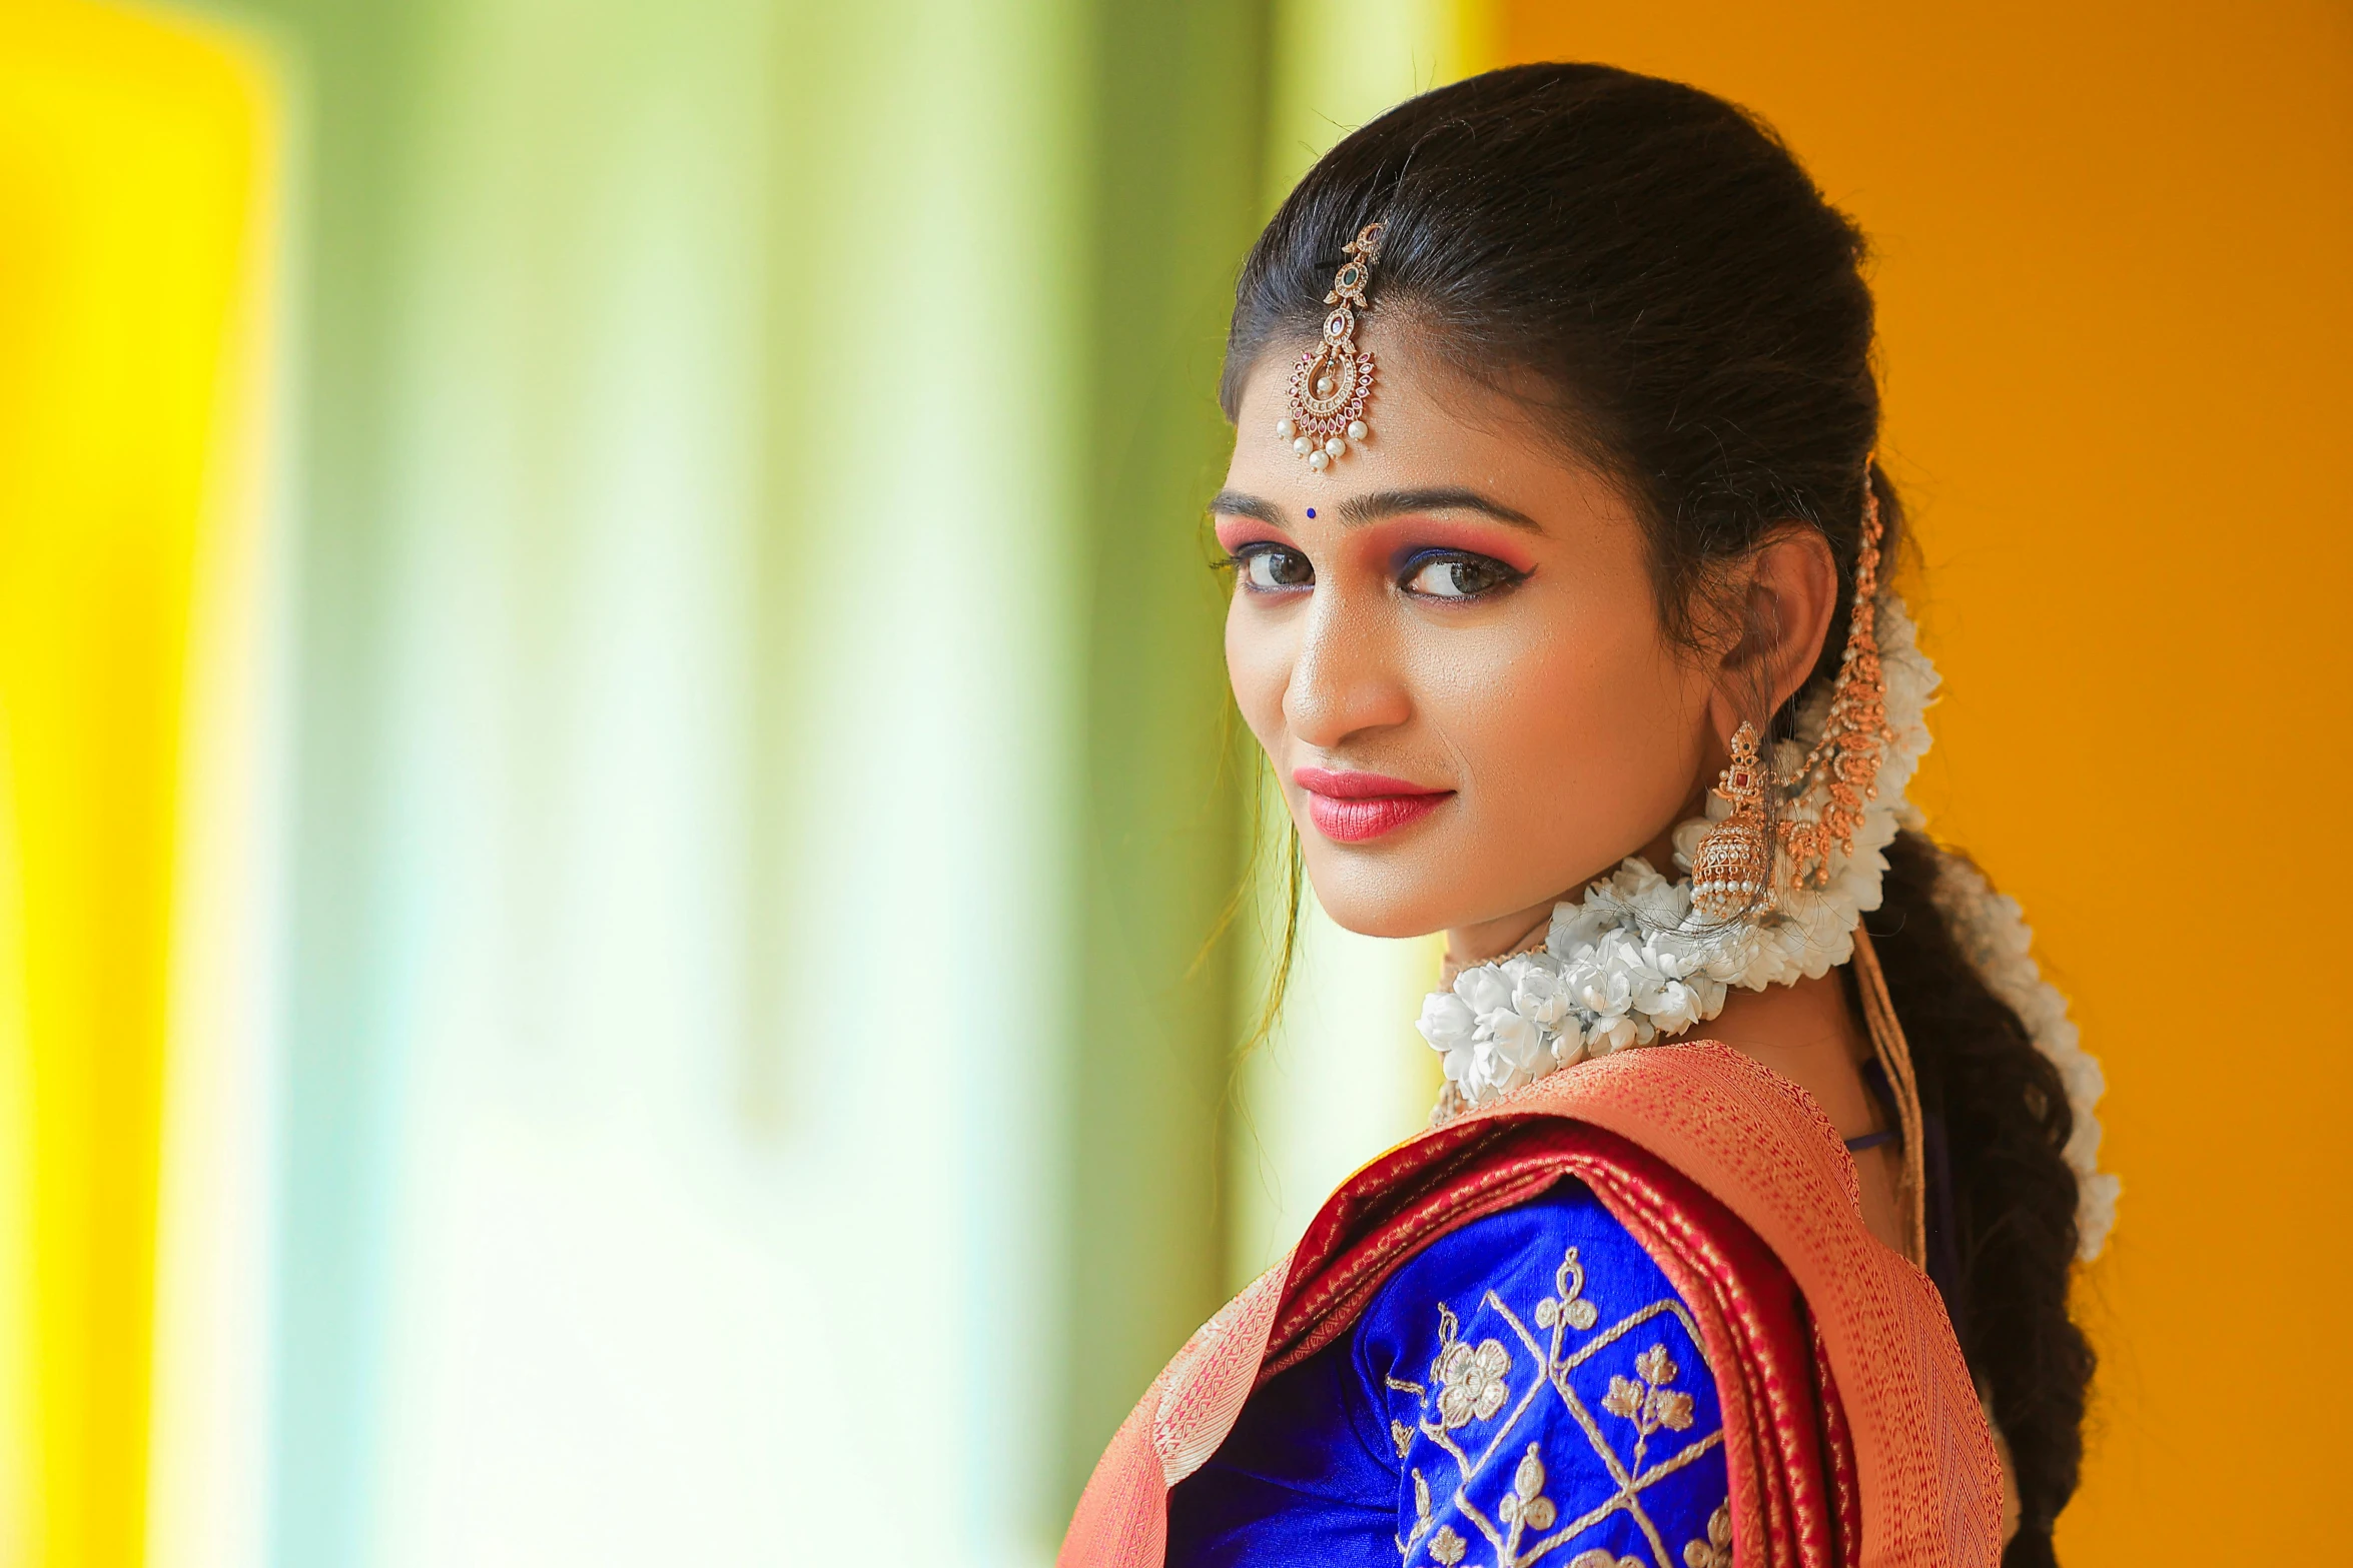
<svg viewBox="0 0 2353 1568"><path fill-rule="evenodd" d="M1694 87L1609 66L1515 66L1412 99L1332 148L1235 287L1221 400L1315 339L1346 244L1381 221L1369 322L1527 402L1635 505L1671 635L1711 569L1791 524L1824 534L1840 611L1795 708L1835 675L1878 442L1864 237L1772 134ZM1897 557L1904 512L1868 468ZM2021 1526L2052 1563L2075 1490L2092 1352L2066 1314L2075 1180L2057 1070L1934 903L1937 856L1889 851L1880 957L1922 1107L1946 1131L1951 1312L2009 1443Z"/></svg>

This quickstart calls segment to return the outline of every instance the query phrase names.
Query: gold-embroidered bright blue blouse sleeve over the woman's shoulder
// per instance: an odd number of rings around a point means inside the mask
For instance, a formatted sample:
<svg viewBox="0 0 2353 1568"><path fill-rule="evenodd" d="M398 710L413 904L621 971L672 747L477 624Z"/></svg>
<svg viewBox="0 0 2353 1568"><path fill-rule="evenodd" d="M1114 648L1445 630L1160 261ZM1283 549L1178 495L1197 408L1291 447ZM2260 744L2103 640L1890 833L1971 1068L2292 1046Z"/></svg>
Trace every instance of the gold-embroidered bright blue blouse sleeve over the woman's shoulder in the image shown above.
<svg viewBox="0 0 2353 1568"><path fill-rule="evenodd" d="M1586 1187L1560 1182L1421 1248L1365 1309L1353 1356L1402 1472L1407 1556L1704 1568L1722 1547L1722 1420L1699 1328Z"/></svg>

